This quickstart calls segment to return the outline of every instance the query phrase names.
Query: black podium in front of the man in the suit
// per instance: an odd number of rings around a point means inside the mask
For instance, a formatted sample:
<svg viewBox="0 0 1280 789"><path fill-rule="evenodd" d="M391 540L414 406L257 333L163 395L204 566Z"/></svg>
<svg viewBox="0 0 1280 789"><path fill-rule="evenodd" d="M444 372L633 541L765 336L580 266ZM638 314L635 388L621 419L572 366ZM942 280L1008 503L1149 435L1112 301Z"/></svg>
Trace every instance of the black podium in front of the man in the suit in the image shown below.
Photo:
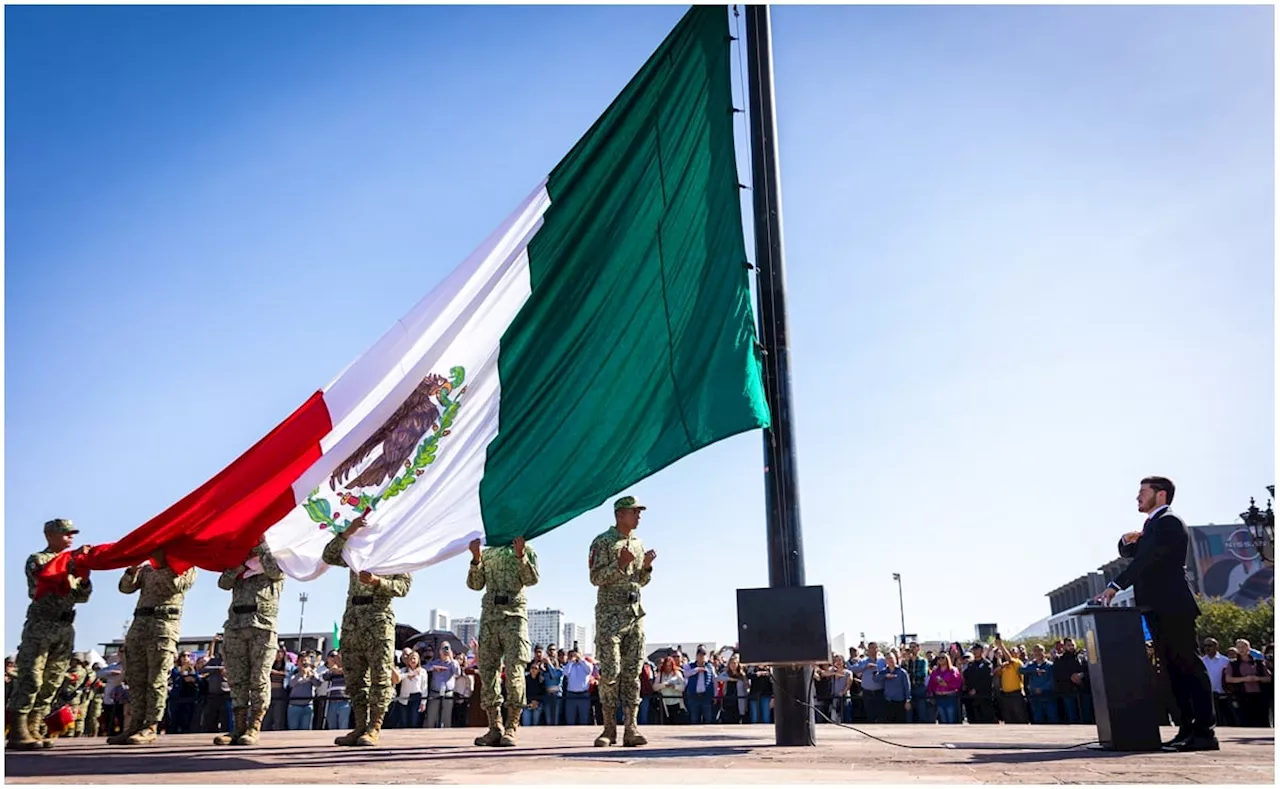
<svg viewBox="0 0 1280 789"><path fill-rule="evenodd" d="M1147 657L1142 611L1088 606L1080 617L1103 751L1160 751L1156 670Z"/></svg>

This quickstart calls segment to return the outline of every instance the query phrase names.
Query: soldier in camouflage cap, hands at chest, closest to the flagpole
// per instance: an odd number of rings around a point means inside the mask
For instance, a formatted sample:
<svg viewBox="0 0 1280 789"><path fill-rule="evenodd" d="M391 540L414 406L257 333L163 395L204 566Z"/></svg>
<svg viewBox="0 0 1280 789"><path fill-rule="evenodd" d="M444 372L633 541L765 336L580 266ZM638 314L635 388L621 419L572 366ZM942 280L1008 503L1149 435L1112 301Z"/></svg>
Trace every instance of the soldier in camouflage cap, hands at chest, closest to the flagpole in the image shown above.
<svg viewBox="0 0 1280 789"><path fill-rule="evenodd" d="M613 520L604 534L591 541L589 564L595 597L595 656L600 666L600 707L604 731L595 747L612 745L618 738L618 701L626 713L622 744L644 745L649 740L636 726L640 704L640 663L644 661L644 607L640 588L653 576L654 551L644 552L634 532L644 510L634 496L613 502Z"/></svg>

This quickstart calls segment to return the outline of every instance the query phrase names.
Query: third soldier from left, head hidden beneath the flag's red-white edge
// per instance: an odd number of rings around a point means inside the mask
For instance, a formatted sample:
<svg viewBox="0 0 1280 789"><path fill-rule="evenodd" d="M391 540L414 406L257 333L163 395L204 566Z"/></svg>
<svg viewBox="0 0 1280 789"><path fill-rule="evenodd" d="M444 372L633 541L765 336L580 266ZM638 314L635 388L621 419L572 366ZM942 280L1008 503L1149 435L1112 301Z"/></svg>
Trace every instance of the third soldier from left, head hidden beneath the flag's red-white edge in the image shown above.
<svg viewBox="0 0 1280 789"><path fill-rule="evenodd" d="M280 614L284 573L264 539L248 552L244 564L223 571L218 588L232 592L232 605L223 625L223 670L232 687L236 730L219 734L214 744L256 745L262 719L271 703L275 621ZM210 681L220 680L212 678Z"/></svg>

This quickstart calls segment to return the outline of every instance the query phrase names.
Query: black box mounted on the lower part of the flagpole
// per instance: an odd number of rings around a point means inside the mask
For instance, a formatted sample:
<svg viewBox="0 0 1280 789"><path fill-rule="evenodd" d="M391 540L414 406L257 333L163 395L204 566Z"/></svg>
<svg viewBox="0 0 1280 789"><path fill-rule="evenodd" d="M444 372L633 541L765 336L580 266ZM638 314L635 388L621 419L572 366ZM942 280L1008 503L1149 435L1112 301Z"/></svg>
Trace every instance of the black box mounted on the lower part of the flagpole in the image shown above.
<svg viewBox="0 0 1280 789"><path fill-rule="evenodd" d="M831 660L822 587L737 590L737 651L744 663Z"/></svg>

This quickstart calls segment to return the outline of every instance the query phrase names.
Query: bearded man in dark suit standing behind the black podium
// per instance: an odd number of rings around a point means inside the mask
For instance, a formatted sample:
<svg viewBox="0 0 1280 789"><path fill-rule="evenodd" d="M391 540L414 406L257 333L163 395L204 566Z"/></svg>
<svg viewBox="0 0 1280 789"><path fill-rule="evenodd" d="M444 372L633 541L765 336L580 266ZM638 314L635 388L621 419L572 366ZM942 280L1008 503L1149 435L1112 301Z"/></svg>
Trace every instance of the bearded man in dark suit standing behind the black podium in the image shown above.
<svg viewBox="0 0 1280 789"><path fill-rule="evenodd" d="M1116 592L1133 587L1134 605L1146 611L1156 656L1181 712L1178 736L1166 743L1175 751L1217 751L1213 735L1213 693L1208 671L1196 655L1199 606L1187 583L1187 524L1169 508L1174 483L1148 476L1138 489L1138 511L1147 515L1142 532L1120 538L1120 556L1133 561L1102 592L1111 605Z"/></svg>

